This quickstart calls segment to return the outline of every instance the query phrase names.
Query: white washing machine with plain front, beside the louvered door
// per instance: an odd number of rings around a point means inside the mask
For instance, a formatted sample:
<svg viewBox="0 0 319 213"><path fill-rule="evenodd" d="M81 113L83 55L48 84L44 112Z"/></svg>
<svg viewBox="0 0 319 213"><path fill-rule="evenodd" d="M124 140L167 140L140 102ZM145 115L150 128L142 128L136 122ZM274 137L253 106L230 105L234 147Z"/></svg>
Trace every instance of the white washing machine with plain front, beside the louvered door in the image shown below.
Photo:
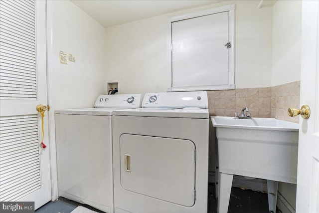
<svg viewBox="0 0 319 213"><path fill-rule="evenodd" d="M141 100L100 95L95 108L55 111L59 196L114 212L112 112L139 108Z"/></svg>

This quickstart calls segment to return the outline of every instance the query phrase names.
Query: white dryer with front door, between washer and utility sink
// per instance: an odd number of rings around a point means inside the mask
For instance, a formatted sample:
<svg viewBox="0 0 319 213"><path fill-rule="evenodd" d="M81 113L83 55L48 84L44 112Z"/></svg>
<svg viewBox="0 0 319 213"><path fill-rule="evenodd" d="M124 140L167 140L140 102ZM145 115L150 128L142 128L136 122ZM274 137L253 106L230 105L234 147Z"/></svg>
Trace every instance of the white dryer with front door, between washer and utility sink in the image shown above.
<svg viewBox="0 0 319 213"><path fill-rule="evenodd" d="M113 112L115 213L207 213L207 93L147 93L142 107Z"/></svg>

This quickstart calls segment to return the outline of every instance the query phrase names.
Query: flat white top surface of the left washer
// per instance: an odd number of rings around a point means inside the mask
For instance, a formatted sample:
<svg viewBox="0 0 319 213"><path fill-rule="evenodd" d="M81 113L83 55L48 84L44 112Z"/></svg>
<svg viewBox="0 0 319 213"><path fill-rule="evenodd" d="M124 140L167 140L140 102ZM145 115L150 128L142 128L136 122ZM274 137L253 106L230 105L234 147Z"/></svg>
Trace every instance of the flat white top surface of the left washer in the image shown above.
<svg viewBox="0 0 319 213"><path fill-rule="evenodd" d="M113 110L111 108L63 109L55 110L55 114L112 116Z"/></svg>

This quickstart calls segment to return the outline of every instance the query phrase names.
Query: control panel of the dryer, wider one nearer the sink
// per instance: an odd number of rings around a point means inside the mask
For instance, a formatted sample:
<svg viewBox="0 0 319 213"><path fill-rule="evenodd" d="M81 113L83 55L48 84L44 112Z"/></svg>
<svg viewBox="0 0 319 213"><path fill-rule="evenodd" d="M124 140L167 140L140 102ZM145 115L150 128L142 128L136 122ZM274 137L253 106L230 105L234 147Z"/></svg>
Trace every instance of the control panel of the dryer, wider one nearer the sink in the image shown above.
<svg viewBox="0 0 319 213"><path fill-rule="evenodd" d="M208 108L206 91L146 93L143 108Z"/></svg>

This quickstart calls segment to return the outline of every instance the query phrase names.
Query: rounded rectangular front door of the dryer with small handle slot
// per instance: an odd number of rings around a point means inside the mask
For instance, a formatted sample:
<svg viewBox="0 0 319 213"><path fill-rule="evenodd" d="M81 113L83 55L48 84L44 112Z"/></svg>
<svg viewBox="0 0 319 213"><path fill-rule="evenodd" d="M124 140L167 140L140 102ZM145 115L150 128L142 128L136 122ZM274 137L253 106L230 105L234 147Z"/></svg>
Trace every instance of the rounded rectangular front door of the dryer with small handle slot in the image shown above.
<svg viewBox="0 0 319 213"><path fill-rule="evenodd" d="M120 150L124 189L185 207L194 205L192 141L123 134Z"/></svg>

